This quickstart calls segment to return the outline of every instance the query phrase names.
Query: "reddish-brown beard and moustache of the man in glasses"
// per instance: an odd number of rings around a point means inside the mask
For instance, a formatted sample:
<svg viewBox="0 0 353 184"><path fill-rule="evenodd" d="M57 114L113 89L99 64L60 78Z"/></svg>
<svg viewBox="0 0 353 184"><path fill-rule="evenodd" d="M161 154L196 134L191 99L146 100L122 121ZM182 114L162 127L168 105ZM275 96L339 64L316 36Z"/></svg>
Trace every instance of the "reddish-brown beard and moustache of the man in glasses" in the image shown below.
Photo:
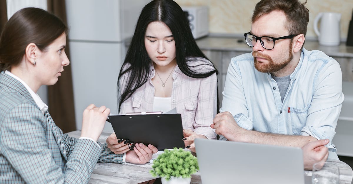
<svg viewBox="0 0 353 184"><path fill-rule="evenodd" d="M257 51L253 51L252 56L254 57L254 66L259 72L263 72L263 73L277 72L283 69L284 67L286 67L288 63L292 61L293 59L292 42L289 43L289 51L288 51L287 59L285 59L281 63L274 63L272 58L269 55L265 55ZM264 64L264 63L261 63L260 61L257 61L256 57L266 59L268 61L268 64Z"/></svg>

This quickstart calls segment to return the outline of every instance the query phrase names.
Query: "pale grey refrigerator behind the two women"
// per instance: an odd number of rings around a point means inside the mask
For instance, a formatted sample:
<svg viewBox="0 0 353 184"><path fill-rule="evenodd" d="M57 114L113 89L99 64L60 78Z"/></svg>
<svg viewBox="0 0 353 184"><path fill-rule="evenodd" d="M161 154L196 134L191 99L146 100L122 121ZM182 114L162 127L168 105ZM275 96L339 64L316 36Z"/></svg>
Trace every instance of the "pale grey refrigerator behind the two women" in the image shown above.
<svg viewBox="0 0 353 184"><path fill-rule="evenodd" d="M137 19L149 0L66 1L76 127L89 104L118 114L117 81ZM106 123L103 131L113 132Z"/></svg>

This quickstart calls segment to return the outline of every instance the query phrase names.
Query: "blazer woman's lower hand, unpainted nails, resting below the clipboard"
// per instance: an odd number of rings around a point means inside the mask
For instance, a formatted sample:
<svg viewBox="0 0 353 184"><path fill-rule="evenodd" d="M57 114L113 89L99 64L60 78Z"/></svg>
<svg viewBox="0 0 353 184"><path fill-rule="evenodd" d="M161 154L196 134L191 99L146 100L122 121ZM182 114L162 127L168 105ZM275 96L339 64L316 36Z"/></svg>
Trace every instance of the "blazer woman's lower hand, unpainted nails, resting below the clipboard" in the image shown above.
<svg viewBox="0 0 353 184"><path fill-rule="evenodd" d="M153 145L145 146L143 143L136 143L133 150L126 152L126 162L132 164L145 164L152 159L152 155L158 149Z"/></svg>

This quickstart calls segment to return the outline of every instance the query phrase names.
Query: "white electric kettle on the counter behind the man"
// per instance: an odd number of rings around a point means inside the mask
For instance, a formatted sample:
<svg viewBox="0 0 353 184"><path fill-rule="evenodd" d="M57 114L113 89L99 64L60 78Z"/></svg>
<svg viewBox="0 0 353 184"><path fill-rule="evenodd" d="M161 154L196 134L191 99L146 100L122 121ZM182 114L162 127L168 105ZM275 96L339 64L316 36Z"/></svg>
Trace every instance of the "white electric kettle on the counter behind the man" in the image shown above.
<svg viewBox="0 0 353 184"><path fill-rule="evenodd" d="M314 20L314 31L319 37L319 44L325 46L336 46L340 44L340 22L341 13L325 12L319 13ZM317 24L321 19L320 31Z"/></svg>

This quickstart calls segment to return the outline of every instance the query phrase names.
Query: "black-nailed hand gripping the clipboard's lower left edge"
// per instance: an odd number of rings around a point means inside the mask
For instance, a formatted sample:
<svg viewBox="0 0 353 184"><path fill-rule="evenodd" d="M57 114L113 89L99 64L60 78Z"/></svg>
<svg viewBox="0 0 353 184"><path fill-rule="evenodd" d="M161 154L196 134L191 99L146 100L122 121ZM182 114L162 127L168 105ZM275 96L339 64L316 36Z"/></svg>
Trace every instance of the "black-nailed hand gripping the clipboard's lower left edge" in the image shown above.
<svg viewBox="0 0 353 184"><path fill-rule="evenodd" d="M133 142L130 140L118 139L115 133L110 134L106 139L107 147L115 154L123 154L131 149Z"/></svg>

